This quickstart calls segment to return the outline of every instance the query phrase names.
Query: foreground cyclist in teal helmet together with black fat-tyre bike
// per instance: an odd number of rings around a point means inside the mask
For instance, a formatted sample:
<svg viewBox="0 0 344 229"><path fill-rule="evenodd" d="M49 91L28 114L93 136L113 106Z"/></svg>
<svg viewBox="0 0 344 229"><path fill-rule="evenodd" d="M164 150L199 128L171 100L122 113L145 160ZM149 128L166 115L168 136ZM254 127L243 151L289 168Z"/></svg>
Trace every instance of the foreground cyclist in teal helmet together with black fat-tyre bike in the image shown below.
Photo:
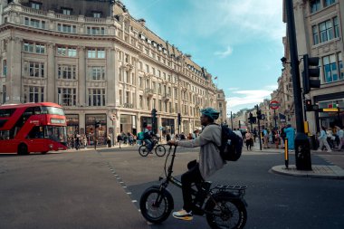
<svg viewBox="0 0 344 229"><path fill-rule="evenodd" d="M246 186L218 185L211 188L211 182L205 181L207 177L224 167L226 162L222 155L224 128L214 123L214 120L218 119L219 112L206 108L201 110L201 113L201 124L205 128L198 138L178 142L168 141L171 147L167 158L171 155L172 146L175 148L168 169L166 160L166 179L159 186L151 186L142 194L141 214L151 223L158 224L165 221L174 208L173 198L167 190L168 184L172 183L182 188L184 200L183 209L173 213L175 218L192 220L193 215L206 215L206 220L212 228L244 228L247 220L244 201ZM234 136L234 134L231 135L233 133L231 130L228 131L230 131L229 136ZM229 151L240 150L240 157L243 142L228 138L228 144L231 140L232 146ZM237 146L234 146L234 143L237 143ZM194 160L188 163L188 171L182 175L181 182L172 177L177 146L200 147L199 161Z"/></svg>

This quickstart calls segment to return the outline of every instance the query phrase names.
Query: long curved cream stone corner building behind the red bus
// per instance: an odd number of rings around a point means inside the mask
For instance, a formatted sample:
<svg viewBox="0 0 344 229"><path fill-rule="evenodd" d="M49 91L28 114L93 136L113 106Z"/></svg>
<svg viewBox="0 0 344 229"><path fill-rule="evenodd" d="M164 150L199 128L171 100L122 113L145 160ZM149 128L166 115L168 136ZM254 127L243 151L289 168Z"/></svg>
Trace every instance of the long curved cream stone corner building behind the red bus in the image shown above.
<svg viewBox="0 0 344 229"><path fill-rule="evenodd" d="M95 121L100 143L143 122L187 134L201 127L200 109L218 107L212 75L120 1L1 0L0 13L0 102L59 103L69 135L92 143Z"/></svg>

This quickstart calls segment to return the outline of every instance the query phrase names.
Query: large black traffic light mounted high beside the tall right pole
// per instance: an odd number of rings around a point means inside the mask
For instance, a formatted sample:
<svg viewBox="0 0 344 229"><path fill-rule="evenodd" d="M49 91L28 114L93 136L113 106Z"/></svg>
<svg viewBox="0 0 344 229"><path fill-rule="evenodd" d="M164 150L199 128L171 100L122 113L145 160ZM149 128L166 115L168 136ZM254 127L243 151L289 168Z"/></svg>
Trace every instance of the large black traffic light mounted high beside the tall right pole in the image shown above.
<svg viewBox="0 0 344 229"><path fill-rule="evenodd" d="M309 57L308 54L303 55L303 93L308 94L311 88L320 88L320 69L319 57ZM316 79L311 79L316 78Z"/></svg>

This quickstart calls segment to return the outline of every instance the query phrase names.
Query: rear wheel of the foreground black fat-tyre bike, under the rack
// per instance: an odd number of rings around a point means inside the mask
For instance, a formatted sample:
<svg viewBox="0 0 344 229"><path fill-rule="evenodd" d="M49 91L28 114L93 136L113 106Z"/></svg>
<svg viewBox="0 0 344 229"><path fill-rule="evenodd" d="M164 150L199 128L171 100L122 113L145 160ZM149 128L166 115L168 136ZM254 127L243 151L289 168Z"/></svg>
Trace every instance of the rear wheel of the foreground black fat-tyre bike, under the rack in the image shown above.
<svg viewBox="0 0 344 229"><path fill-rule="evenodd" d="M221 192L210 197L205 204L206 221L213 229L244 228L247 211L244 202L233 194Z"/></svg>

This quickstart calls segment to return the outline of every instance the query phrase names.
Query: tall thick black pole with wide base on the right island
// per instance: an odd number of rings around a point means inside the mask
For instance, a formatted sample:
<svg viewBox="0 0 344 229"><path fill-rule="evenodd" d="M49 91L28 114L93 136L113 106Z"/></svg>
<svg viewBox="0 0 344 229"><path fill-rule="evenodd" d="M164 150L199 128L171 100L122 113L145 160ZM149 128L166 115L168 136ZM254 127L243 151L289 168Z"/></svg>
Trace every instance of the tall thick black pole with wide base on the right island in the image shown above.
<svg viewBox="0 0 344 229"><path fill-rule="evenodd" d="M298 170L311 170L311 147L307 135L304 133L302 97L301 97L301 81L299 70L298 48L296 43L296 29L294 20L294 10L292 0L285 1L285 9L287 13L288 38L291 52L291 74L292 88L294 96L294 108L296 118L297 134L294 139L295 145L295 164ZM298 9L298 8L297 8ZM293 140L293 139L288 139Z"/></svg>

